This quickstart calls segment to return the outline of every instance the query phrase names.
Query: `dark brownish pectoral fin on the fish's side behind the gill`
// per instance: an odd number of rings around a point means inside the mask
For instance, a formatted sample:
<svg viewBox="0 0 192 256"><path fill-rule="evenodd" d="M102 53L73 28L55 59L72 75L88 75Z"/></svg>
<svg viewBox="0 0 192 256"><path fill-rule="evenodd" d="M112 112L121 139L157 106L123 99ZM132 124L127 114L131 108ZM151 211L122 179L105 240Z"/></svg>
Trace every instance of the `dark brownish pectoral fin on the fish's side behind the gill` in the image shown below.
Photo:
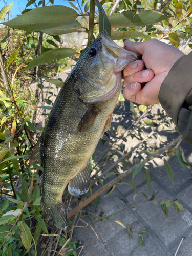
<svg viewBox="0 0 192 256"><path fill-rule="evenodd" d="M100 110L96 108L95 104L91 105L81 118L78 124L78 131L86 132L89 128L91 128L99 112Z"/></svg>

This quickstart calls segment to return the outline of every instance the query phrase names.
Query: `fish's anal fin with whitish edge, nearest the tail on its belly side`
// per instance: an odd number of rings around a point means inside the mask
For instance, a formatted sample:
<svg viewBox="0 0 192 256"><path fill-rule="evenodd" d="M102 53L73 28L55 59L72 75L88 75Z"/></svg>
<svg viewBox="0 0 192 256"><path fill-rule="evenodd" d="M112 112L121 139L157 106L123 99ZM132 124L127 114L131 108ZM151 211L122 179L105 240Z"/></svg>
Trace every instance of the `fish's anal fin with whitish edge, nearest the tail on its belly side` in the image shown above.
<svg viewBox="0 0 192 256"><path fill-rule="evenodd" d="M91 185L90 170L88 166L73 178L68 185L68 191L72 196L79 196L87 193Z"/></svg>

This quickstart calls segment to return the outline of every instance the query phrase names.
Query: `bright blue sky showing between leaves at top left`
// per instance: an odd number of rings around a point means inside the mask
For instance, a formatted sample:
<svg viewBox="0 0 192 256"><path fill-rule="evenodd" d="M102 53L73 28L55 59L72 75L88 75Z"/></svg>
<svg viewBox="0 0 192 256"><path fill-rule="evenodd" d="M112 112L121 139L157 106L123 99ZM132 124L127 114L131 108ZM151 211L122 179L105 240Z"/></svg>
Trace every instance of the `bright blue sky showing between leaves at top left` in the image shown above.
<svg viewBox="0 0 192 256"><path fill-rule="evenodd" d="M13 0L0 0L0 10L4 7L5 3L10 4L11 2L13 2ZM38 1L36 1L36 2L38 3ZM45 0L45 2L47 4L48 0ZM28 0L15 0L13 3L13 8L11 10L13 17L20 14L20 11L23 11L25 9L25 6L27 3L28 3ZM51 5L50 2L48 5ZM68 1L66 1L66 0L55 0L54 5L70 6ZM30 8L30 6L28 8ZM31 8L34 8L34 5L31 5Z"/></svg>

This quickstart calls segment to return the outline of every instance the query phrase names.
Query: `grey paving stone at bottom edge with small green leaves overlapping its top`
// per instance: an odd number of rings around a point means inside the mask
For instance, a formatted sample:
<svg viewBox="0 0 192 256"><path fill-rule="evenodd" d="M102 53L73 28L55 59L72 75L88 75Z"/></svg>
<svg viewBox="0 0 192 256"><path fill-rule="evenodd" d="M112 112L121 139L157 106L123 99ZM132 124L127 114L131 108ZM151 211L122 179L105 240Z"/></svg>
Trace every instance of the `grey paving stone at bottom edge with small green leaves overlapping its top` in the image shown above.
<svg viewBox="0 0 192 256"><path fill-rule="evenodd" d="M143 234L144 246L138 241L138 233L145 228L133 223L133 237L129 238L127 231L123 229L115 238L105 244L105 248L112 256L166 256L167 254L153 239L150 233Z"/></svg>

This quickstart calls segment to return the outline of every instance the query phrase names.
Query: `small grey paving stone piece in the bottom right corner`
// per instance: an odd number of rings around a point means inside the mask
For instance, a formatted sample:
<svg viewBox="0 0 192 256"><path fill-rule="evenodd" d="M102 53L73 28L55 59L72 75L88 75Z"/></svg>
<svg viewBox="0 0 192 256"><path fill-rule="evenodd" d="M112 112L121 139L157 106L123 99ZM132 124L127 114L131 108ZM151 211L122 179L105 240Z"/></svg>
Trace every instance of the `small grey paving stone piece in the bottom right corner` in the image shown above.
<svg viewBox="0 0 192 256"><path fill-rule="evenodd" d="M178 245L172 250L173 255L175 255L177 251ZM182 244L179 248L177 256L191 256L192 254L192 233L189 234L188 238L185 238L182 241Z"/></svg>

